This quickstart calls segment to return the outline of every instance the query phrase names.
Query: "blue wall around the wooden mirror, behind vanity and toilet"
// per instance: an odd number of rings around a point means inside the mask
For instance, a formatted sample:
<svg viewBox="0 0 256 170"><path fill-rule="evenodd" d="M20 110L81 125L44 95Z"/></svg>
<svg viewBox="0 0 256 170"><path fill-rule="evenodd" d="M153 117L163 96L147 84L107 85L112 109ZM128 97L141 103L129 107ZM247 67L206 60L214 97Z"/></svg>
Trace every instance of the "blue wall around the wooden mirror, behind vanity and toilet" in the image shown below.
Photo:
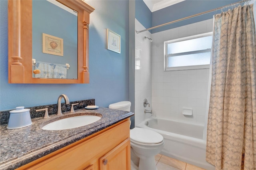
<svg viewBox="0 0 256 170"><path fill-rule="evenodd" d="M129 2L86 1L90 15L90 84L8 84L8 2L0 0L0 110L57 103L60 94L70 101L96 99L96 105L129 99ZM121 54L106 49L106 29L121 36ZM64 100L63 100L64 101Z"/></svg>

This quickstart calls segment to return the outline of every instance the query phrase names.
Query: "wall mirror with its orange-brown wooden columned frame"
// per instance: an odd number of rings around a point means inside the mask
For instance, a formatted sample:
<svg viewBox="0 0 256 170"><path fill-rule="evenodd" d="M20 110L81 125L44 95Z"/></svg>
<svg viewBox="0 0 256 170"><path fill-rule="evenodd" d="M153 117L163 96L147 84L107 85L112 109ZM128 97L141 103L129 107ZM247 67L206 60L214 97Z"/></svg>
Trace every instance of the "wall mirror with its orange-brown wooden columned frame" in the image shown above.
<svg viewBox="0 0 256 170"><path fill-rule="evenodd" d="M9 83L89 83L93 11L83 0L8 1Z"/></svg>

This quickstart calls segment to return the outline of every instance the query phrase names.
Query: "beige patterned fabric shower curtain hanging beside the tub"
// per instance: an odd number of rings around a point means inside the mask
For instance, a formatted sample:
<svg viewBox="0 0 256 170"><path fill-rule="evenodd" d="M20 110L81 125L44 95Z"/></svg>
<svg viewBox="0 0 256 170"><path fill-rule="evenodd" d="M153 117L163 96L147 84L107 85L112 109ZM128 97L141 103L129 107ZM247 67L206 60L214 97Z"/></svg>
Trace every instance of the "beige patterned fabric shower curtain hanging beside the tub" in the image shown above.
<svg viewBox="0 0 256 170"><path fill-rule="evenodd" d="M256 169L253 5L215 15L206 161L216 170Z"/></svg>

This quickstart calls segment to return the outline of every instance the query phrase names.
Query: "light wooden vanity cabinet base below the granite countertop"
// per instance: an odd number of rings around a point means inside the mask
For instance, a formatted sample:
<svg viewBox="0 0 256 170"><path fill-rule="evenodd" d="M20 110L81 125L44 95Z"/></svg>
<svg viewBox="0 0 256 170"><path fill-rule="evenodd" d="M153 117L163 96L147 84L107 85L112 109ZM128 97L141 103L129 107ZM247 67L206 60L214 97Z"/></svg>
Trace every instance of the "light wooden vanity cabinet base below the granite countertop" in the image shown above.
<svg viewBox="0 0 256 170"><path fill-rule="evenodd" d="M109 128L70 144L47 156L26 164L22 169L129 170L129 121L126 119ZM116 135L120 134L120 135ZM107 142L106 142L107 141Z"/></svg>

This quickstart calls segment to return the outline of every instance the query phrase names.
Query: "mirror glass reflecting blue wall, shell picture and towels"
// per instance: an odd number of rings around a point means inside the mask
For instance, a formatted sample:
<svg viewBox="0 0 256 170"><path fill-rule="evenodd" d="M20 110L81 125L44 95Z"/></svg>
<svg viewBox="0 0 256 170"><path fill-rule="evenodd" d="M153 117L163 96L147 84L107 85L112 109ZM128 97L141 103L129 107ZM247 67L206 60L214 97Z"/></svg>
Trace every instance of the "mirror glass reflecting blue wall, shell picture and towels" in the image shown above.
<svg viewBox="0 0 256 170"><path fill-rule="evenodd" d="M78 12L56 0L33 0L32 58L32 77L78 79Z"/></svg>

